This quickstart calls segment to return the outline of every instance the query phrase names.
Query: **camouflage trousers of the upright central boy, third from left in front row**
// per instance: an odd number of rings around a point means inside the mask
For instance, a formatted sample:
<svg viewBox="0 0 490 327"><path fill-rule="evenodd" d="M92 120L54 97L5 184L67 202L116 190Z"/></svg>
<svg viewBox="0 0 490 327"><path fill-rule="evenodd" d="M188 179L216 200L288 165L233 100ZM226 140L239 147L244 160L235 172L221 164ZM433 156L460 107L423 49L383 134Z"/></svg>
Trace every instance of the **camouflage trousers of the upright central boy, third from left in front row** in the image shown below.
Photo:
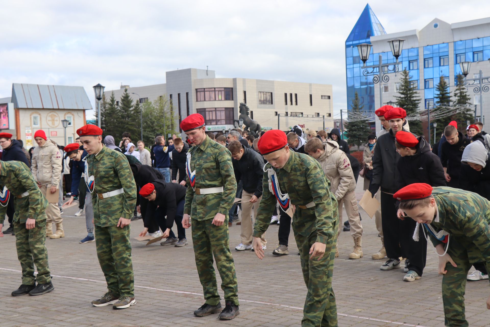
<svg viewBox="0 0 490 327"><path fill-rule="evenodd" d="M221 297L213 267L213 254L221 276L221 289L226 302L238 303L238 284L235 263L230 252L228 219L222 226L211 224L212 219L192 221L192 241L196 267L207 304L217 305Z"/></svg>

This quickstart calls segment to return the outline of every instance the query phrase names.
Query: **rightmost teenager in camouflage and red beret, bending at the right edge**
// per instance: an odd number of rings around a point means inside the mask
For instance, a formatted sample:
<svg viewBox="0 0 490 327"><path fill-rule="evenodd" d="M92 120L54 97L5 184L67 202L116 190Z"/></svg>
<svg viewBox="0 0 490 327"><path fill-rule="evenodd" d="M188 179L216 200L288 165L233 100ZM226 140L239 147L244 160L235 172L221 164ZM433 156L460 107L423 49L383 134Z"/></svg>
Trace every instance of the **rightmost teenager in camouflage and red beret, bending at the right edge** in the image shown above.
<svg viewBox="0 0 490 327"><path fill-rule="evenodd" d="M422 228L436 247L439 274L443 275L445 326L469 326L465 316L466 275L476 262L485 262L490 270L490 201L476 193L425 183L405 186L393 198L417 222L414 240Z"/></svg>

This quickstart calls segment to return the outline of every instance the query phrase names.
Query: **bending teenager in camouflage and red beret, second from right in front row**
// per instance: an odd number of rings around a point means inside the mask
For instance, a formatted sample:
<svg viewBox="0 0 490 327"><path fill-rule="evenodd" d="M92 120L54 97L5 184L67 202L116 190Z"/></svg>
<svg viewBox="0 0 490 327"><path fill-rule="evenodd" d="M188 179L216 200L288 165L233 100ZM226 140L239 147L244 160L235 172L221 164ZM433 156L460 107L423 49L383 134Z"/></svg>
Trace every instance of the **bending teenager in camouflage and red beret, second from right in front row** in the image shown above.
<svg viewBox="0 0 490 327"><path fill-rule="evenodd" d="M292 226L308 287L301 326L336 327L332 276L339 217L337 200L329 191L318 161L291 151L283 131L267 131L258 147L269 163L264 167L263 199L253 231L255 254L264 258L260 237L269 226L276 201L284 211L295 208Z"/></svg>

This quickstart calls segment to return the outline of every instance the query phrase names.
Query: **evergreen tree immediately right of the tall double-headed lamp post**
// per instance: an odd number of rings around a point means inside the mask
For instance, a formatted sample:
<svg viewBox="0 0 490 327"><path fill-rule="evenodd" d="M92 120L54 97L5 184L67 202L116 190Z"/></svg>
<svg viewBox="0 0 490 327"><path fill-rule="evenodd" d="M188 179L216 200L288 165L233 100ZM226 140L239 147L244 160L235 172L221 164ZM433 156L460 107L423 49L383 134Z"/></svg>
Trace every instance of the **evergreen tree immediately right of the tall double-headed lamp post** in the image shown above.
<svg viewBox="0 0 490 327"><path fill-rule="evenodd" d="M404 69L401 73L400 86L398 88L398 94L395 96L396 105L405 109L407 116L417 114L418 105L420 104L420 98L417 94L417 89L410 85L410 75L407 69ZM410 131L416 135L422 135L422 123L418 120L409 121Z"/></svg>

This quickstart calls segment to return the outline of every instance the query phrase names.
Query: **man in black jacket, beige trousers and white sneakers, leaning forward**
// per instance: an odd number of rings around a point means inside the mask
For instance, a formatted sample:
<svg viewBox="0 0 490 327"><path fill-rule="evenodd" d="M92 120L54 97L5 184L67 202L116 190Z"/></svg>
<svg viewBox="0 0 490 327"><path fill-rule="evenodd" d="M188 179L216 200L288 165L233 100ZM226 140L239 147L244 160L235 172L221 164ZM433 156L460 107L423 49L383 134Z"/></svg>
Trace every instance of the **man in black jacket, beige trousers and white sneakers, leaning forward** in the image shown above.
<svg viewBox="0 0 490 327"><path fill-rule="evenodd" d="M242 181L242 242L235 248L237 251L252 249L252 209L257 217L257 209L262 200L262 179L264 177L264 159L240 142L233 141L228 145L233 158L233 168L237 183ZM261 237L262 250L267 249L265 233ZM253 249L252 249L253 250Z"/></svg>

